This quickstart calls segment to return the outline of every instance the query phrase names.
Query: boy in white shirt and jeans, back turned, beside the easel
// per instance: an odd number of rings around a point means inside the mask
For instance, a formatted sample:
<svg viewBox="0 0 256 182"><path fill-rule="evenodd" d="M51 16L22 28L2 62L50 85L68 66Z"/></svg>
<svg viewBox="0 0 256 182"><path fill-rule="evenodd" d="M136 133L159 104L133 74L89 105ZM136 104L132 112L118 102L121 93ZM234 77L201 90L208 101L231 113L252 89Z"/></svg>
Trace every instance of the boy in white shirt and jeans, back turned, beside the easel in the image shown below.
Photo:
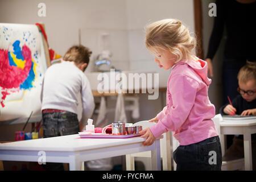
<svg viewBox="0 0 256 182"><path fill-rule="evenodd" d="M60 64L51 65L42 85L43 137L77 134L92 116L95 104L88 78L84 71L91 51L84 46L68 49ZM79 93L82 97L82 118L77 118ZM59 163L48 163L48 170L63 170Z"/></svg>

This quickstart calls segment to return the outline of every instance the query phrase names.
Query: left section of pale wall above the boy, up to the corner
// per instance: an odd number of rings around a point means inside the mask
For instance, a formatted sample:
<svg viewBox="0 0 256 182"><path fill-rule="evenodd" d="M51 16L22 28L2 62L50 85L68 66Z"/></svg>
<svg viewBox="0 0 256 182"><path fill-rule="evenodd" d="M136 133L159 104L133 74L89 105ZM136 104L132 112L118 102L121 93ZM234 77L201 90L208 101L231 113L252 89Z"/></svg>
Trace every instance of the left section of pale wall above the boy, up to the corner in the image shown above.
<svg viewBox="0 0 256 182"><path fill-rule="evenodd" d="M46 17L38 16L40 2L46 4ZM107 32L110 34L113 64L119 69L129 68L125 1L2 0L0 22L23 24L43 22L46 26L49 46L60 55L64 55L73 44L79 43L80 28L81 43L92 49L92 59L101 51L98 41L100 35Z"/></svg>

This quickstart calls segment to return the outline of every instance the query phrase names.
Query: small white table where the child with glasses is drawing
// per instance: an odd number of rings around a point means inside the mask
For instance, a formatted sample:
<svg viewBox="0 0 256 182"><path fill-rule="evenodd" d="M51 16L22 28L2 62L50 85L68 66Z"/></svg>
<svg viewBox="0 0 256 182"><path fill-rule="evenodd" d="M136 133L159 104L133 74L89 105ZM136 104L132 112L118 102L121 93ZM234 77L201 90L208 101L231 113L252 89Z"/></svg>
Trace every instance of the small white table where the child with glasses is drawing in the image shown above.
<svg viewBox="0 0 256 182"><path fill-rule="evenodd" d="M251 134L256 133L256 119L229 119L223 117L223 121L220 122L220 132L223 135L243 135L245 170L253 170Z"/></svg>

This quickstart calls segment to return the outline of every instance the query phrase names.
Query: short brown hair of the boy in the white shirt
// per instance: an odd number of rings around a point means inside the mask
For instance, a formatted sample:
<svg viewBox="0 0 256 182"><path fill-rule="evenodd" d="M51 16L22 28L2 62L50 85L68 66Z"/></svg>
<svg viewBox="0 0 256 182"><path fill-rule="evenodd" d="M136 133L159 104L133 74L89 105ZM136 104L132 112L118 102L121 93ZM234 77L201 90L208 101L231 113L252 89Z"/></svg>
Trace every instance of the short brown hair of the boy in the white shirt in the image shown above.
<svg viewBox="0 0 256 182"><path fill-rule="evenodd" d="M92 54L89 48L82 45L72 46L65 53L63 60L64 61L73 61L76 65L80 63L89 63L89 57Z"/></svg>

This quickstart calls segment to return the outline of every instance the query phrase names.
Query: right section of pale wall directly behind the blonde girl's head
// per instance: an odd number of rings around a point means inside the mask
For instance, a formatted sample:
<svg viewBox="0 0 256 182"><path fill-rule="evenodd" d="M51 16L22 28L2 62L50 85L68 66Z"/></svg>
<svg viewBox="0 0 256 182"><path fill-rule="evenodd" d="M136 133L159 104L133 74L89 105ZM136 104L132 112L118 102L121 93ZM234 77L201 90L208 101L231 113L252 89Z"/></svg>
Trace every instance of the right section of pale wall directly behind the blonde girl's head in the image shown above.
<svg viewBox="0 0 256 182"><path fill-rule="evenodd" d="M154 57L144 46L146 24L160 19L175 18L195 31L192 0L126 0L127 28L129 30L129 56L131 70L159 73L159 86L166 86L170 72L154 63Z"/></svg>

